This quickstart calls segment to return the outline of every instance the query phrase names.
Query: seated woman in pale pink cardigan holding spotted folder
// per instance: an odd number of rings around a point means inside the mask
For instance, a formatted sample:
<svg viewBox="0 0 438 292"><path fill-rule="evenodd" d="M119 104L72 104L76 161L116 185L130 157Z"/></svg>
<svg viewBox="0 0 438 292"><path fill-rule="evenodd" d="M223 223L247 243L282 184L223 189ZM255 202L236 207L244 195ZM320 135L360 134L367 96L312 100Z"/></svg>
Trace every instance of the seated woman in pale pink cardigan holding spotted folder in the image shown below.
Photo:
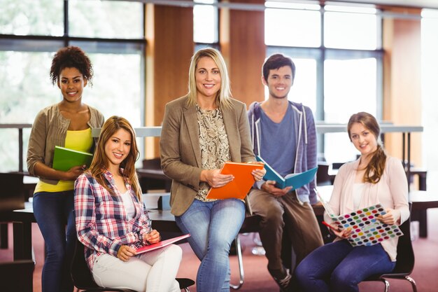
<svg viewBox="0 0 438 292"><path fill-rule="evenodd" d="M401 225L409 218L408 184L402 162L386 155L379 143L379 124L371 114L355 113L347 129L360 158L339 169L328 202L330 208L340 215L381 204L386 214L379 220ZM324 216L330 223L327 212ZM347 240L351 228L332 232L337 236L334 242L320 246L298 265L295 275L302 291L356 292L360 281L394 269L398 237L372 246L353 247Z"/></svg>

